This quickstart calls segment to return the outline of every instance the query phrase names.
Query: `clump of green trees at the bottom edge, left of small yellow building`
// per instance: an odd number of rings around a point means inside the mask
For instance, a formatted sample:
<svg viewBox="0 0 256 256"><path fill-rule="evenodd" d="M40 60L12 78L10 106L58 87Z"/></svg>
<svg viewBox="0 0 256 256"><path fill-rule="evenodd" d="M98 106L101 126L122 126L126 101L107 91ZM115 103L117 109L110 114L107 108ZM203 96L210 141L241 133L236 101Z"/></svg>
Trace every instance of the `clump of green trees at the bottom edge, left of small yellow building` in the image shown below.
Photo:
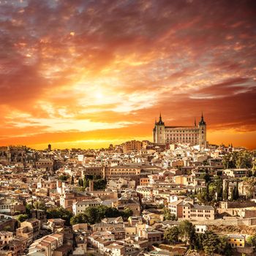
<svg viewBox="0 0 256 256"><path fill-rule="evenodd" d="M195 226L192 222L184 220L178 226L167 228L164 234L165 241L170 244L184 242L189 244L190 249L203 250L206 255L232 255L230 244L227 244L227 237L218 236L212 231L195 233Z"/></svg>

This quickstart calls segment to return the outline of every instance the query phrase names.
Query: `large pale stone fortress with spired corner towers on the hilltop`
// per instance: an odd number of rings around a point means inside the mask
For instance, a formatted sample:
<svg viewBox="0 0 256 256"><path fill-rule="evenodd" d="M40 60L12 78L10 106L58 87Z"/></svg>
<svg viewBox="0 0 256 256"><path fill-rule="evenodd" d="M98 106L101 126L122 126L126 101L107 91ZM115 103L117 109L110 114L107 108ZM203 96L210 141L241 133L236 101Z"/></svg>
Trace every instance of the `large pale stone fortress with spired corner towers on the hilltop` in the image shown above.
<svg viewBox="0 0 256 256"><path fill-rule="evenodd" d="M203 113L199 124L191 127L165 126L160 114L159 121L155 122L153 129L153 142L159 144L189 143L191 146L205 146L206 143L206 122L203 120Z"/></svg>

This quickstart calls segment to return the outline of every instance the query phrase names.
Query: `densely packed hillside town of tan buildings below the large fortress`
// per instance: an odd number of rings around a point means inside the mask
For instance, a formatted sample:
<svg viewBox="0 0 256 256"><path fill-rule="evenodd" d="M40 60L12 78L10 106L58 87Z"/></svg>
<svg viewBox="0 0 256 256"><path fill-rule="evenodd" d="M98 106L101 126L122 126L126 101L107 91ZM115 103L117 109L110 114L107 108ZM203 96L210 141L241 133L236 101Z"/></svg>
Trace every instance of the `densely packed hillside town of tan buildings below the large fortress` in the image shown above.
<svg viewBox="0 0 256 256"><path fill-rule="evenodd" d="M255 255L255 157L178 141L1 146L0 255Z"/></svg>

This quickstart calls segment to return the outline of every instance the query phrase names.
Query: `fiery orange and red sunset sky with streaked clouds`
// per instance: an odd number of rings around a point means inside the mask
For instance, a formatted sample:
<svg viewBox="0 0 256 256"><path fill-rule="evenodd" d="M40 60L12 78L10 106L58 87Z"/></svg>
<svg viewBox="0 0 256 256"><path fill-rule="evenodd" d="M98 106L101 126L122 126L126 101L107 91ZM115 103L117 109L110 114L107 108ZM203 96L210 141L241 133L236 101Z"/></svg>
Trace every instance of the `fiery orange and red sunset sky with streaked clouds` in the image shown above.
<svg viewBox="0 0 256 256"><path fill-rule="evenodd" d="M155 118L256 148L256 1L0 0L0 146L152 140Z"/></svg>

